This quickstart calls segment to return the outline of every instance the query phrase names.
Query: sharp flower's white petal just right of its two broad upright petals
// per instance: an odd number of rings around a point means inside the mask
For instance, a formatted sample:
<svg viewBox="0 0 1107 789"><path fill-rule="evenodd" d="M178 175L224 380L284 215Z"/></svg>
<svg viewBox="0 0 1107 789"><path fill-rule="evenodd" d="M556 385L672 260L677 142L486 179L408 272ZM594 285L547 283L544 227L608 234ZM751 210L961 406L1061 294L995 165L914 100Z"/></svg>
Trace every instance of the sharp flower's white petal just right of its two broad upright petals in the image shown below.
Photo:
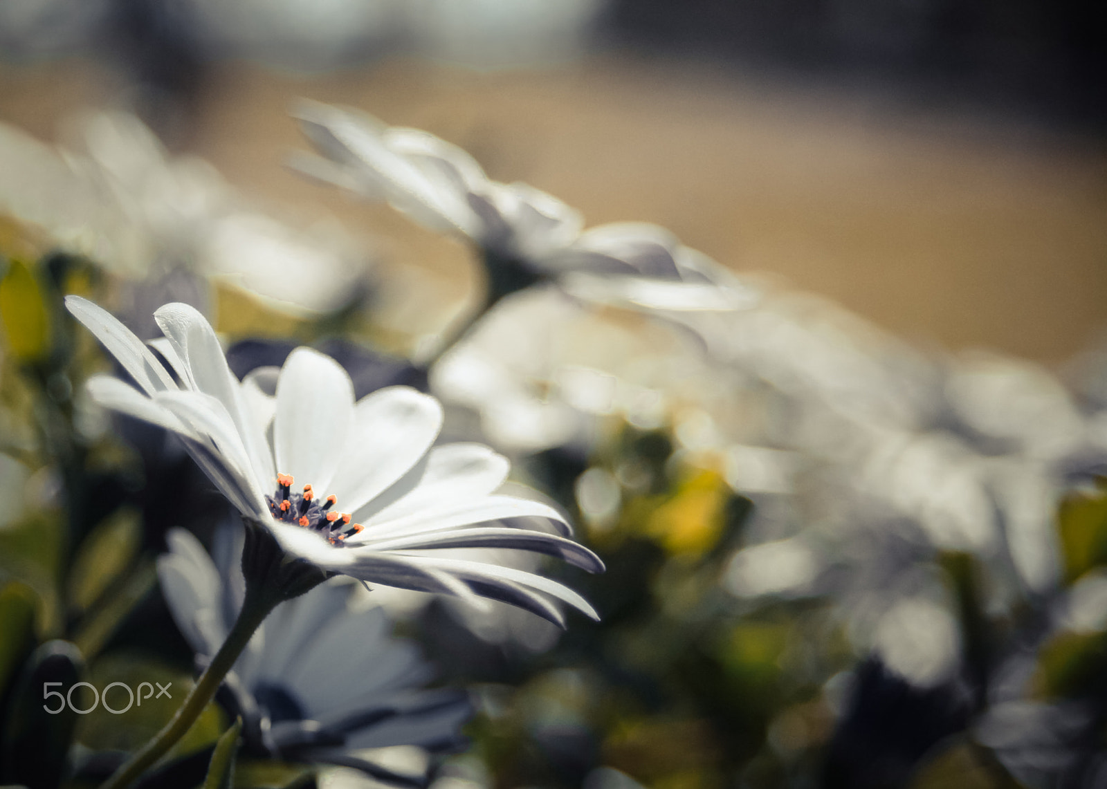
<svg viewBox="0 0 1107 789"><path fill-rule="evenodd" d="M434 447L425 464L359 510L359 520L392 520L443 501L487 496L504 484L509 471L507 458L483 444ZM390 500L394 503L387 503ZM379 502L385 506L379 507Z"/></svg>

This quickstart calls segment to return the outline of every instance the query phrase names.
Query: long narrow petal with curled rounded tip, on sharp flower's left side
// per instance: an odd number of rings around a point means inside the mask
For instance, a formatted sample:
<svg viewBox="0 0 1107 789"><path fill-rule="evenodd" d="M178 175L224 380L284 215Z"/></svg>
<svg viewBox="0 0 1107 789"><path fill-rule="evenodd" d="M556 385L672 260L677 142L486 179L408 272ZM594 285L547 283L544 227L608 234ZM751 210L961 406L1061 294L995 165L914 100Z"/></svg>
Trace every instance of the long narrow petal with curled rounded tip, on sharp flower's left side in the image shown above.
<svg viewBox="0 0 1107 789"><path fill-rule="evenodd" d="M154 319L188 366L196 388L224 404L246 448L252 476L268 485L275 476L269 445L249 413L211 324L195 308L180 303L158 308Z"/></svg>

